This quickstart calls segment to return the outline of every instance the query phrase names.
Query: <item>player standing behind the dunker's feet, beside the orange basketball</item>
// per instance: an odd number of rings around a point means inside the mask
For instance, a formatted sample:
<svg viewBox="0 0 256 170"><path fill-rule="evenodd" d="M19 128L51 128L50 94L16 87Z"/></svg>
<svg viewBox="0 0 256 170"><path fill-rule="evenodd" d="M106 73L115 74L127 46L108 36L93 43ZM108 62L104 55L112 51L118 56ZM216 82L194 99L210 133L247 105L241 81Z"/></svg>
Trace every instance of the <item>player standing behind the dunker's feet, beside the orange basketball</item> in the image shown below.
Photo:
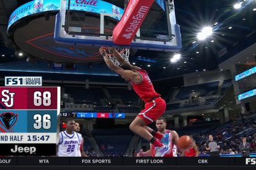
<svg viewBox="0 0 256 170"><path fill-rule="evenodd" d="M177 157L177 147L176 143L179 140L179 135L176 131L171 131L166 129L166 120L163 117L157 118L155 121L155 126L157 127L157 132L162 135L168 135L169 138L167 141L163 141L163 144L169 147L169 151L166 152L163 157ZM166 138L167 139L167 138ZM137 157L155 157L155 147L150 145L150 149L146 152L140 151L137 154Z"/></svg>

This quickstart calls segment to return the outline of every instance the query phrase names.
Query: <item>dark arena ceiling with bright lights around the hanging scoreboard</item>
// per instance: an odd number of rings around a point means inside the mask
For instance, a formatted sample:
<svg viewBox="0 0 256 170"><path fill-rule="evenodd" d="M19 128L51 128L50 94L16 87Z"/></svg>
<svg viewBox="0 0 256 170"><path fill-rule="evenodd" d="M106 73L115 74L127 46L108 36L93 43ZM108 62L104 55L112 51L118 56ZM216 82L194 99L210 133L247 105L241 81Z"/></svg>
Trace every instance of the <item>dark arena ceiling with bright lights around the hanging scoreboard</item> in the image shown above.
<svg viewBox="0 0 256 170"><path fill-rule="evenodd" d="M124 6L123 1L106 1L115 3L119 7ZM26 2L29 1L0 0L0 70L17 70L18 67L20 71L34 71L33 68L37 64L37 68L51 72L52 70L44 68L49 66L48 61L27 60L27 56L18 58L15 56L15 50L7 47L11 44L6 37L10 13ZM241 2L241 9L233 8L237 2ZM254 0L176 0L174 5L177 23L182 33L181 60L171 63L169 60L174 53L147 50L137 50L130 56L130 62L146 68L154 80L177 77L184 73L218 69L219 63L256 41L256 1ZM213 27L213 35L205 41L198 41L197 33L204 26ZM13 63L18 63L18 65ZM113 75L102 63L84 64L84 66L77 67L85 67L90 71L77 69L75 73ZM58 72L61 73L62 70ZM72 70L69 69L69 72Z"/></svg>

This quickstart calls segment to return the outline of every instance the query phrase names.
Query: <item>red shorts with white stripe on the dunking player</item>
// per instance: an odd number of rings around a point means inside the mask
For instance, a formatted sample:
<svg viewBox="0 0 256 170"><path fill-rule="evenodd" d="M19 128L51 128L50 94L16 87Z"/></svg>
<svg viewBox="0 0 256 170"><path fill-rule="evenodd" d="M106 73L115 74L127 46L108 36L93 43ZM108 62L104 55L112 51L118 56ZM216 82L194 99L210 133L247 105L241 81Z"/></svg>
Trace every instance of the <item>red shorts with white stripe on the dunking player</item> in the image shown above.
<svg viewBox="0 0 256 170"><path fill-rule="evenodd" d="M137 117L144 120L146 124L153 123L158 117L165 113L166 103L161 97L150 101L145 104L145 109L143 109Z"/></svg>

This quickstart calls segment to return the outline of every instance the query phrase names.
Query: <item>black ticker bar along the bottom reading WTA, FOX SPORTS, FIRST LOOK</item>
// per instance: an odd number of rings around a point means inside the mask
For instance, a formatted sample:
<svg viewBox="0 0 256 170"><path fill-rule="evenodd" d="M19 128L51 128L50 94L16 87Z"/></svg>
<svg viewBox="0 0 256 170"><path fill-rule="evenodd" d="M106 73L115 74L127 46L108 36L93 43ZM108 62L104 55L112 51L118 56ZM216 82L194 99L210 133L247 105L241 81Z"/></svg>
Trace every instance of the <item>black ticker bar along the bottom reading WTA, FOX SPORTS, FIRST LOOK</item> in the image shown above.
<svg viewBox="0 0 256 170"><path fill-rule="evenodd" d="M48 149L45 148L46 151ZM234 157L0 157L0 166L241 166L256 167L256 158ZM1 169L1 168L0 168ZM2 170L2 169L1 169Z"/></svg>

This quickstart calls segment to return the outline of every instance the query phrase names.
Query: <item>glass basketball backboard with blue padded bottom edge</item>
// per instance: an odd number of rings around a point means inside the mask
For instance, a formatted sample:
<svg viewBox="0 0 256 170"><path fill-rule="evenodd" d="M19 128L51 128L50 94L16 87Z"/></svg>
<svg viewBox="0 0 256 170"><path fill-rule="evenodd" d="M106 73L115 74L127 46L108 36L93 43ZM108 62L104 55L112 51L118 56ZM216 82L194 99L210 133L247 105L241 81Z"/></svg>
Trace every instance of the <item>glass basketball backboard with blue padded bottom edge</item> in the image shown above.
<svg viewBox="0 0 256 170"><path fill-rule="evenodd" d="M113 30L122 21L123 14L129 13L129 3L136 1L147 0L61 0L60 13L55 20L54 39L59 43L87 46L179 51L182 48L181 35L172 0L153 2L130 44L121 46L113 42ZM125 11L126 7L128 11Z"/></svg>

